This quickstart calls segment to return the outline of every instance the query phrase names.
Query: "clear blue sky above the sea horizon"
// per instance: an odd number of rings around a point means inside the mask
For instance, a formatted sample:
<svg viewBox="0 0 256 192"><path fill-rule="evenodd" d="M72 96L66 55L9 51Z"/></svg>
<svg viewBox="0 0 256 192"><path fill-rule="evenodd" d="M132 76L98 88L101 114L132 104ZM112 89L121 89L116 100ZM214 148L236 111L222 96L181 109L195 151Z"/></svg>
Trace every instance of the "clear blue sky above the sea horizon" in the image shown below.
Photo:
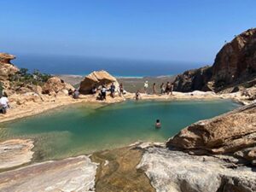
<svg viewBox="0 0 256 192"><path fill-rule="evenodd" d="M255 0L0 0L0 52L212 63Z"/></svg>

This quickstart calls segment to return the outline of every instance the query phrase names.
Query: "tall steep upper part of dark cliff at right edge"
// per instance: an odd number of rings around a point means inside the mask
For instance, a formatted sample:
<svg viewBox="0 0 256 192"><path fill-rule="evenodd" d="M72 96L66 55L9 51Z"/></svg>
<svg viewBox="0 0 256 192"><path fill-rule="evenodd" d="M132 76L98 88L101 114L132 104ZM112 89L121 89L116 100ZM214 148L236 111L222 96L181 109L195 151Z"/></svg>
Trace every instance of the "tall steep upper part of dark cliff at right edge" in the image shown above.
<svg viewBox="0 0 256 192"><path fill-rule="evenodd" d="M212 79L233 84L256 75L256 28L242 32L218 52L212 66Z"/></svg>

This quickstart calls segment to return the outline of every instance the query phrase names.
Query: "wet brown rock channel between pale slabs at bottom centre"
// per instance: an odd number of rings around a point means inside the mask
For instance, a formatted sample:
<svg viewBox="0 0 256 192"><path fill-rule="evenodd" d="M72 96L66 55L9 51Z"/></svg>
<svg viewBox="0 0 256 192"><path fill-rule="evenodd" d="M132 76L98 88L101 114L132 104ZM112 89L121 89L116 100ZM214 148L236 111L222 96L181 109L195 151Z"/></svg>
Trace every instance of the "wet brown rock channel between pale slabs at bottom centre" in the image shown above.
<svg viewBox="0 0 256 192"><path fill-rule="evenodd" d="M143 150L134 145L92 154L91 160L99 163L96 173L96 191L154 192L144 172L137 172L136 166L142 156Z"/></svg>

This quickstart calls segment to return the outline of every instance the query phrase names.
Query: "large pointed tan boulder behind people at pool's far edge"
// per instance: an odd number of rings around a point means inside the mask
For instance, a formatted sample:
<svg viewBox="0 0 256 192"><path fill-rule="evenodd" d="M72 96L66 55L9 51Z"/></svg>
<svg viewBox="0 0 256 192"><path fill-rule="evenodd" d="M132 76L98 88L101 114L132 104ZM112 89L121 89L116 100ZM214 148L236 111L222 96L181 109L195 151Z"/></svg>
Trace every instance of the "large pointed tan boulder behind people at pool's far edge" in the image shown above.
<svg viewBox="0 0 256 192"><path fill-rule="evenodd" d="M115 87L118 88L119 83L111 74L106 71L97 71L87 75L80 84L79 91L83 94L90 94L94 86L99 87L100 85L107 85L114 83Z"/></svg>

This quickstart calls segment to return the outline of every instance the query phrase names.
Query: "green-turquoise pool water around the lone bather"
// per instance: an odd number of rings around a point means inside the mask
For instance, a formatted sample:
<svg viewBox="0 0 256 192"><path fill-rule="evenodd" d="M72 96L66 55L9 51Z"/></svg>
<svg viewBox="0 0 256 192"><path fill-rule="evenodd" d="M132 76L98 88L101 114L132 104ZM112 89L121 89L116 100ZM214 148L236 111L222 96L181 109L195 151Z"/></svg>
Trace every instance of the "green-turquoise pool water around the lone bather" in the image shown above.
<svg viewBox="0 0 256 192"><path fill-rule="evenodd" d="M138 140L164 142L186 125L238 106L227 100L79 104L0 125L0 140L32 138L40 160L58 159ZM154 128L155 119L162 123L160 130Z"/></svg>

